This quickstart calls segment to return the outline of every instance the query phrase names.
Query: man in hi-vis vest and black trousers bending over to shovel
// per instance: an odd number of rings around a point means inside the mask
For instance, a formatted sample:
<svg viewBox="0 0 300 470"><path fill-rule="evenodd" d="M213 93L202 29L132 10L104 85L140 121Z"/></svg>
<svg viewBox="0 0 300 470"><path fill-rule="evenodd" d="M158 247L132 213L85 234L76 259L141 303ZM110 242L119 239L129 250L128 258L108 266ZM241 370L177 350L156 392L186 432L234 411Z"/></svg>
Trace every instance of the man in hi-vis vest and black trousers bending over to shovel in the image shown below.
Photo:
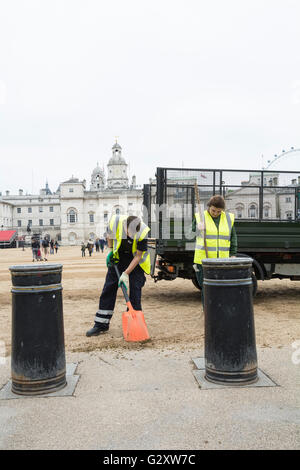
<svg viewBox="0 0 300 470"><path fill-rule="evenodd" d="M109 253L106 257L108 271L100 295L99 309L94 318L94 326L87 331L87 336L97 336L109 329L114 313L118 287L121 283L129 290L129 299L135 310L142 310L142 287L146 274L150 274L150 254L147 237L149 227L138 217L113 215L107 228ZM114 263L118 264L120 280Z"/></svg>

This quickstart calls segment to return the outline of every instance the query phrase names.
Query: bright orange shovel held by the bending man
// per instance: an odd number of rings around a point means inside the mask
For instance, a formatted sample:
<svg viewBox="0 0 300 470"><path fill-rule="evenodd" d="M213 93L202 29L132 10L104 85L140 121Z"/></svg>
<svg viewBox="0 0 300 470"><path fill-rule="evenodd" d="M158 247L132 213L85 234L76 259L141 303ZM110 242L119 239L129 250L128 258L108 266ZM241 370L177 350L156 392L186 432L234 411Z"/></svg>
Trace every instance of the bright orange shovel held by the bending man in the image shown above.
<svg viewBox="0 0 300 470"><path fill-rule="evenodd" d="M115 270L120 278L119 270L116 265ZM122 315L122 328L125 341L146 341L150 338L148 328L145 322L144 314L141 310L134 310L127 294L127 289L121 284L122 292L128 308Z"/></svg>

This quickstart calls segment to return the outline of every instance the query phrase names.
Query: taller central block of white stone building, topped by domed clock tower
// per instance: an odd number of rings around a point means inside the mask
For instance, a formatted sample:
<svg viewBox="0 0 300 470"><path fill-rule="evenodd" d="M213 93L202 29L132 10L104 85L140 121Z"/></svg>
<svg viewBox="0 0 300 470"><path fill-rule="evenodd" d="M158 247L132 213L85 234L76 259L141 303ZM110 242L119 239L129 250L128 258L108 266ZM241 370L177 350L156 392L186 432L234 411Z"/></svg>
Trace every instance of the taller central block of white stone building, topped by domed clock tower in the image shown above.
<svg viewBox="0 0 300 470"><path fill-rule="evenodd" d="M80 244L102 236L115 213L142 216L142 190L137 188L135 176L129 184L127 168L122 148L115 143L107 179L97 164L89 190L86 181L77 178L60 184L62 244Z"/></svg>

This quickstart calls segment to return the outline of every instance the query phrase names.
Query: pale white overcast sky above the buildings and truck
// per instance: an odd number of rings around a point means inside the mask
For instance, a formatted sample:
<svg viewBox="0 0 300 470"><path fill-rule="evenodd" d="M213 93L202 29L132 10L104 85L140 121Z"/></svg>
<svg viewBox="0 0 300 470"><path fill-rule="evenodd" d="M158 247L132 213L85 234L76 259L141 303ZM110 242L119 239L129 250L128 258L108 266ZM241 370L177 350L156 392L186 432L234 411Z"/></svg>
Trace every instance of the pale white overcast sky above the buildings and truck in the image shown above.
<svg viewBox="0 0 300 470"><path fill-rule="evenodd" d="M0 6L2 193L89 183L115 136L138 184L300 147L299 0Z"/></svg>

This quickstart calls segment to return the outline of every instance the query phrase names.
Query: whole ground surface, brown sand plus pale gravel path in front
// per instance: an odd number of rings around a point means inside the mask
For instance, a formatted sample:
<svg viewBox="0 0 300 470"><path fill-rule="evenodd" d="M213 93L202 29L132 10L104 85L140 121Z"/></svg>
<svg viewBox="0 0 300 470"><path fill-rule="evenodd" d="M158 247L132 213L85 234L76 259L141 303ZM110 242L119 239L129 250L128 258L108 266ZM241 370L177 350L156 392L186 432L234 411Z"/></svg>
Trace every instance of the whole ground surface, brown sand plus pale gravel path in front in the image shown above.
<svg viewBox="0 0 300 470"><path fill-rule="evenodd" d="M80 375L72 397L0 402L0 449L299 449L300 282L267 281L254 301L259 367L277 387L201 390L192 358L203 357L203 316L191 281L148 278L143 310L151 340L126 343L118 294L111 328L87 338L104 283L106 253L81 258L61 247L67 362ZM0 250L0 388L10 377L9 266L31 251Z"/></svg>

